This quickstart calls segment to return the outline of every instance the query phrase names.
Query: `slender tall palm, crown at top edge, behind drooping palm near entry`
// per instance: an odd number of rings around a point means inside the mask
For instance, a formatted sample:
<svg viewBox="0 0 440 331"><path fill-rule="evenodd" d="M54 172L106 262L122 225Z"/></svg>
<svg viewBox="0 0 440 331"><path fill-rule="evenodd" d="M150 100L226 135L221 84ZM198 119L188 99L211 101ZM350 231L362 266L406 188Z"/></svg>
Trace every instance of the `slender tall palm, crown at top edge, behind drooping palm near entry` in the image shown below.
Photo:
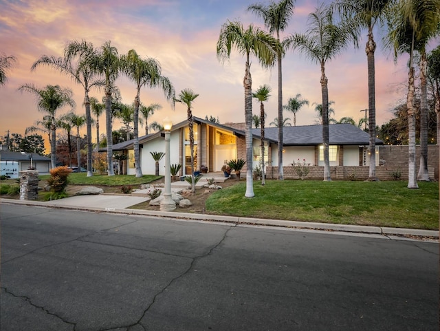
<svg viewBox="0 0 440 331"><path fill-rule="evenodd" d="M248 10L263 18L265 27L270 34L276 34L280 41L280 32L283 32L294 13L295 0L281 0L278 3L271 2L268 6L259 4L251 5ZM281 59L284 56L283 49L278 50L276 59L278 63L278 123L283 123L283 70ZM249 164L249 163L248 163ZM283 173L283 127L278 127L278 179L284 179Z"/></svg>

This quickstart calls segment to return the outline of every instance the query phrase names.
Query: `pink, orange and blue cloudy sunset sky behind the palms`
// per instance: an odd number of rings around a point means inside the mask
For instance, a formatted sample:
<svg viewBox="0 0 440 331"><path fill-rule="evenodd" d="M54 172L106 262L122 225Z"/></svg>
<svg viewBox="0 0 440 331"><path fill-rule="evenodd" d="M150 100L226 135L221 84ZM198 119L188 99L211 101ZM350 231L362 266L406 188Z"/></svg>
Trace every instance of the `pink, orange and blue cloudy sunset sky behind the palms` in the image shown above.
<svg viewBox="0 0 440 331"><path fill-rule="evenodd" d="M263 27L261 19L246 8L255 0L0 0L0 53L17 57L18 63L8 71L8 81L0 87L0 136L6 131L24 135L26 127L34 125L43 114L36 109L35 98L17 89L26 83L37 87L61 85L74 92L76 114L85 114L84 92L69 78L48 67L34 72L30 67L40 56L62 56L68 41L85 39L100 47L111 41L120 54L135 49L140 56L156 58L162 65L162 74L170 78L176 92L191 88L199 97L195 100L193 115L206 115L224 122L244 122L243 76L245 60L233 51L230 62L222 65L216 56L216 43L221 25L228 20L239 20L247 27L250 23ZM268 3L268 1L263 1ZM317 6L316 0L297 0L294 15L283 34L306 32L307 15ZM404 100L407 79L406 57L393 62L391 52L382 47L383 32L375 31L377 50L376 66L376 116L382 125L392 117L391 110ZM357 122L368 108L367 68L364 45L366 32L355 50L349 45L340 56L327 63L329 100L339 120L351 116ZM272 97L265 105L267 123L276 118L277 72L263 70L258 61L252 60L252 89L268 84ZM132 103L135 85L120 75L116 84L120 87L123 103ZM321 103L320 68L305 56L287 51L283 59L283 103L289 97L302 94L309 100L297 114L297 125L316 123L316 111L312 103ZM92 90L91 96L102 99L103 91ZM142 89L142 103L160 103L163 109L156 111L150 122L162 122L166 116L174 122L186 119L186 109L177 104L173 110L159 90ZM58 115L69 111L61 109ZM259 105L254 101L254 114ZM287 111L285 117L293 115ZM100 132L104 133L104 116ZM113 122L113 129L121 124ZM95 135L96 130L92 129ZM142 134L144 129L140 127ZM47 139L44 134L43 138ZM93 141L95 141L95 136Z"/></svg>

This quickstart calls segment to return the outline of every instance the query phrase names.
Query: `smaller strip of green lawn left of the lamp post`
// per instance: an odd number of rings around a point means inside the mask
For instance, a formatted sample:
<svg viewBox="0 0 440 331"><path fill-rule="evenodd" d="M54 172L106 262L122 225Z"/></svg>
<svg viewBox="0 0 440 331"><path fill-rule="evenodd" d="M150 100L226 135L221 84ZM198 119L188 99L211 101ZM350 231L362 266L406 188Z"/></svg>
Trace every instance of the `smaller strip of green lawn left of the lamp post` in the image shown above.
<svg viewBox="0 0 440 331"><path fill-rule="evenodd" d="M47 180L50 175L40 175L41 180ZM153 182L162 178L162 176L143 175L136 178L135 175L96 175L87 177L87 173L71 173L69 175L69 184L72 185L106 185L106 186L121 186L121 185L139 185Z"/></svg>

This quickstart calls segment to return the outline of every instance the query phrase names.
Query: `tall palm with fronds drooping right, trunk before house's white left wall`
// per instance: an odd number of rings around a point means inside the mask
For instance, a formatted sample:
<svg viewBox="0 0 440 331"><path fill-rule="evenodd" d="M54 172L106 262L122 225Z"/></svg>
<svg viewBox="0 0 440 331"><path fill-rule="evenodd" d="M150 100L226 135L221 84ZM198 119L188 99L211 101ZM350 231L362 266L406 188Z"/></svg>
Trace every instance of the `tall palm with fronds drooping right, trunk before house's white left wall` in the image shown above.
<svg viewBox="0 0 440 331"><path fill-rule="evenodd" d="M170 80L162 76L162 69L159 61L155 58L142 59L135 50L129 52L121 58L122 70L136 85L136 96L133 109L133 150L135 156L135 176L142 177L140 167L139 151L139 106L141 87L159 87L165 94L167 100L171 100L174 105L175 90Z"/></svg>

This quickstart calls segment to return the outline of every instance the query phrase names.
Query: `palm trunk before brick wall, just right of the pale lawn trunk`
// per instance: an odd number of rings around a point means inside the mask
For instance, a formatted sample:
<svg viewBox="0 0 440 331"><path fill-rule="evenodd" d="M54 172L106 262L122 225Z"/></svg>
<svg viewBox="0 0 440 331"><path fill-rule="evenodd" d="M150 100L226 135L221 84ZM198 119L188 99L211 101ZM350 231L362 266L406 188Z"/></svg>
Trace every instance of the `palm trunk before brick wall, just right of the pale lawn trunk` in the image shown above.
<svg viewBox="0 0 440 331"><path fill-rule="evenodd" d="M420 59L420 167L418 180L429 182L428 174L428 92L426 88L426 52Z"/></svg>

